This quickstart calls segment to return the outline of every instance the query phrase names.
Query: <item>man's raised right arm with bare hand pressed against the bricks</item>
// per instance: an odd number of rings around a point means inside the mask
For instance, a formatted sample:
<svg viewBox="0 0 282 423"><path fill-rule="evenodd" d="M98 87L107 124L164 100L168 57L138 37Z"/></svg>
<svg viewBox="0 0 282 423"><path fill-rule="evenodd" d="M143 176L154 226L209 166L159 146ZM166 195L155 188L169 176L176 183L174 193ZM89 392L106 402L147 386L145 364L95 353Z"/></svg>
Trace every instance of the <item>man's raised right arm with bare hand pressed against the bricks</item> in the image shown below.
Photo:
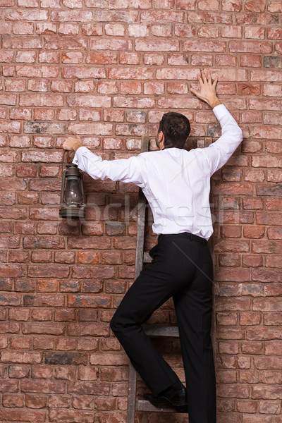
<svg viewBox="0 0 282 423"><path fill-rule="evenodd" d="M218 78L216 77L214 82L212 82L210 72L208 72L207 79L204 71L202 71L202 78L198 75L198 80L200 82L200 92L194 90L194 88L190 88L190 91L212 107L212 111L216 115L222 130L222 135L216 142L202 149L212 176L223 164L226 164L226 161L235 152L235 149L243 140L243 133L238 123L226 109L226 106L221 104L216 96Z"/></svg>

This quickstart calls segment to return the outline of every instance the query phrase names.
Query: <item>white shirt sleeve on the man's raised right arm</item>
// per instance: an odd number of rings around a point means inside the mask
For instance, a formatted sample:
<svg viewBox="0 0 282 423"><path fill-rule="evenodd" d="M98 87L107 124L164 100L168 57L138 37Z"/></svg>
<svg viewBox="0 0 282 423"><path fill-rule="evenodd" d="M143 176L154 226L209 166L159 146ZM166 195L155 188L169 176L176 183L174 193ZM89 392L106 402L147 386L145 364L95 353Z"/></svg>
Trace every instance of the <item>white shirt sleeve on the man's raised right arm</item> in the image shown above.
<svg viewBox="0 0 282 423"><path fill-rule="evenodd" d="M209 147L202 149L209 163L211 176L223 164L226 164L226 161L228 161L243 140L241 128L224 104L219 104L212 110L221 125L221 137Z"/></svg>

